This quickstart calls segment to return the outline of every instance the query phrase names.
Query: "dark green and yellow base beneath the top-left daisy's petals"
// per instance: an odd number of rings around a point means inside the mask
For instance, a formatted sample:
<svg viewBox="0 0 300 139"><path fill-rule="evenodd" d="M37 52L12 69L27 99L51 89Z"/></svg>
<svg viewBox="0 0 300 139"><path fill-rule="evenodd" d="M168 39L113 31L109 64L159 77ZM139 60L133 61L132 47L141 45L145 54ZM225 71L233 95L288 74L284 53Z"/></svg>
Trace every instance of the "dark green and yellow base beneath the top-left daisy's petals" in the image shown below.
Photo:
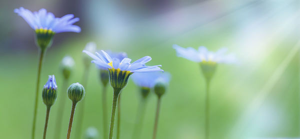
<svg viewBox="0 0 300 139"><path fill-rule="evenodd" d="M35 40L41 49L46 49L52 44L54 31L51 29L38 28L35 29Z"/></svg>

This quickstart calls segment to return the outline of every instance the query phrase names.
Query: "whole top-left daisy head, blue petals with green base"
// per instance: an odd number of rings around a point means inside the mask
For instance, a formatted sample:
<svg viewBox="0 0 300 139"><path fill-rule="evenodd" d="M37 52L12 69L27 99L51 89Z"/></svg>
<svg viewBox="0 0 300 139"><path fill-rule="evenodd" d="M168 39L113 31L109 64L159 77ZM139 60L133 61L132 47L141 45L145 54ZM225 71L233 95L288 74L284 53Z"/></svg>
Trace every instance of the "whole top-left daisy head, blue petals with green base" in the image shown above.
<svg viewBox="0 0 300 139"><path fill-rule="evenodd" d="M14 9L29 26L35 30L36 42L42 48L48 47L52 42L55 33L60 32L80 32L80 27L73 25L79 18L73 18L73 14L66 14L62 17L55 17L53 13L41 8L31 12L23 7Z"/></svg>

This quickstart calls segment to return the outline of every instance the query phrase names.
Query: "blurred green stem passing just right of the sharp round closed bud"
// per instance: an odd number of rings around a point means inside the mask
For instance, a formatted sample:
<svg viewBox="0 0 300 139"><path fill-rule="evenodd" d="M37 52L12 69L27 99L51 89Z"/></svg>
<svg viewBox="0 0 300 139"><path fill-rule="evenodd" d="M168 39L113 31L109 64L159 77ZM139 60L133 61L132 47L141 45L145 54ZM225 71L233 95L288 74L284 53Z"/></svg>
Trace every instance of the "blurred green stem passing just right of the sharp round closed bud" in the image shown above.
<svg viewBox="0 0 300 139"><path fill-rule="evenodd" d="M86 66L84 68L84 73L83 73L83 76L82 76L82 85L84 85L85 87L85 91L86 91L86 86L87 86L87 78L88 78L88 71L89 71L89 67ZM81 138L81 133L82 133L82 123L83 123L83 117L84 117L84 100L81 100L81 104L80 106L78 107L78 118L77 118L77 121L76 121L76 136L75 138Z"/></svg>

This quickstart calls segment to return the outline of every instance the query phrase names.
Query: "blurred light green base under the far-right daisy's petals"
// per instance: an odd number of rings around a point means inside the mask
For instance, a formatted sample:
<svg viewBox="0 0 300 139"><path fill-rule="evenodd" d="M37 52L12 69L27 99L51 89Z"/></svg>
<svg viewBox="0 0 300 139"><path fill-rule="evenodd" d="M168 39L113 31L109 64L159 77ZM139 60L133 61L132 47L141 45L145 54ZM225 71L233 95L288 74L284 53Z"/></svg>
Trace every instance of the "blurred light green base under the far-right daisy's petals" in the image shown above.
<svg viewBox="0 0 300 139"><path fill-rule="evenodd" d="M213 76L216 69L216 62L212 61L202 61L200 62L200 67L202 69L202 73L207 80L210 80Z"/></svg>

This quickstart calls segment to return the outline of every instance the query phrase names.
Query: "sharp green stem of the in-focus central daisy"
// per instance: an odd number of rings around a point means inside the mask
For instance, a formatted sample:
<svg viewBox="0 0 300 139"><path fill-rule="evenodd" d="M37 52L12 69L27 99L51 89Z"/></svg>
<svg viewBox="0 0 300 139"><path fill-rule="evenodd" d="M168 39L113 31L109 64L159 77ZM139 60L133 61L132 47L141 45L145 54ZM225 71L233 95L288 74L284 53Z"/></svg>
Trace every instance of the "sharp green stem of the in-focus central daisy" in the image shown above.
<svg viewBox="0 0 300 139"><path fill-rule="evenodd" d="M112 99L111 118L110 118L109 136L108 136L109 139L112 139L113 136L115 108L116 108L116 102L120 91L121 91L120 88L113 88L113 99Z"/></svg>

